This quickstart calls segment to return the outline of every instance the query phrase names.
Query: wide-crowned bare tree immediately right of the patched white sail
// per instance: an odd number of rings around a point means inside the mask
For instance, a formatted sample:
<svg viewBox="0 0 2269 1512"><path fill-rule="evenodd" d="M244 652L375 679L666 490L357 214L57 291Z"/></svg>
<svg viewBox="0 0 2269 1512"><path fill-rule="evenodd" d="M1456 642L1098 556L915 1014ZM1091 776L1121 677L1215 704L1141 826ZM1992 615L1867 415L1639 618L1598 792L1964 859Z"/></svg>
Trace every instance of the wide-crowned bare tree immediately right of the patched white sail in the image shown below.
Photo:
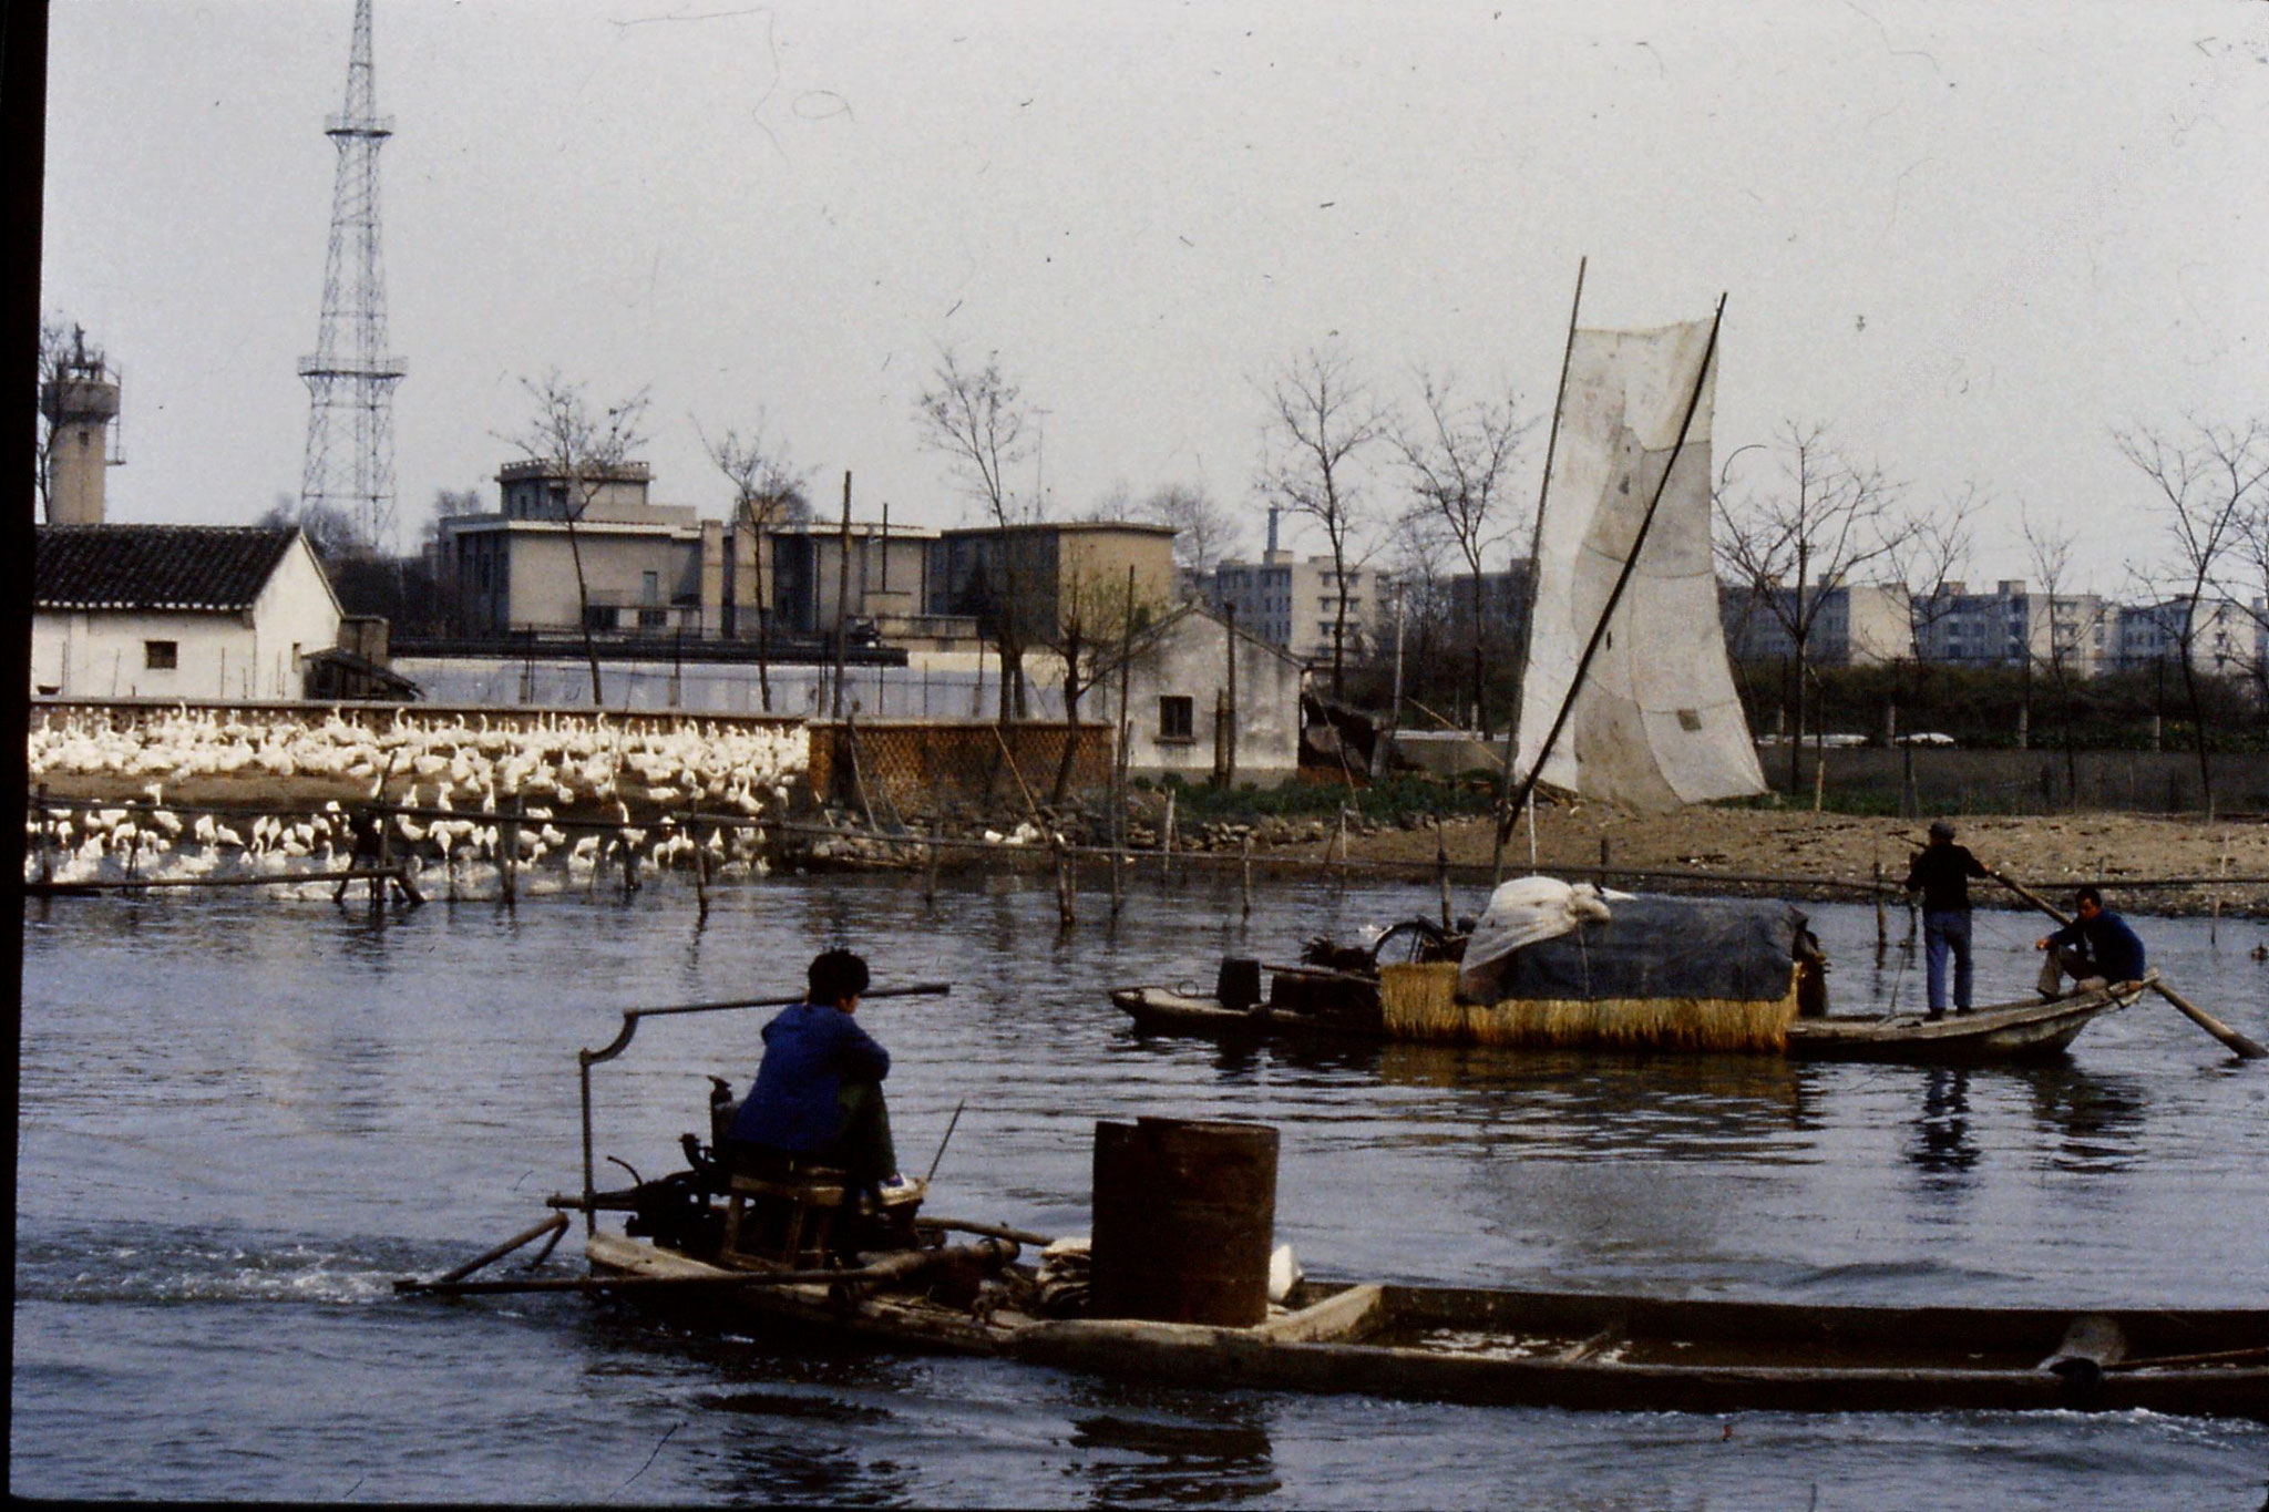
<svg viewBox="0 0 2269 1512"><path fill-rule="evenodd" d="M1915 521L1899 508L1901 485L1845 456L1827 424L1783 422L1765 449L1779 460L1774 483L1736 492L1720 472L1715 549L1720 569L1749 585L1788 632L1795 660L1788 787L1795 789L1820 614L1858 574L1897 562ZM1729 456L1727 469L1731 462Z"/></svg>

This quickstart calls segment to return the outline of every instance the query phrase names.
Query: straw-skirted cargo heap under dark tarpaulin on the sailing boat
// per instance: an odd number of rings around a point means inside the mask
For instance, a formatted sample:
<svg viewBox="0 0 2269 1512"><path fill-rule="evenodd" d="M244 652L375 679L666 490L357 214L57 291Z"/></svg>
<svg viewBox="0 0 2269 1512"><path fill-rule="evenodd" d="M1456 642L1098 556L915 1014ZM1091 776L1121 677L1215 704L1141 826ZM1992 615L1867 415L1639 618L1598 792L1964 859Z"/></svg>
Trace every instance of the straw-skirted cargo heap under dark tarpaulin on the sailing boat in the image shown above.
<svg viewBox="0 0 2269 1512"><path fill-rule="evenodd" d="M1464 966L1382 966L1386 1031L1491 1045L1786 1050L1811 950L1799 909L1568 891L1563 902L1522 900L1511 925L1493 900ZM1518 943L1493 950L1507 936Z"/></svg>

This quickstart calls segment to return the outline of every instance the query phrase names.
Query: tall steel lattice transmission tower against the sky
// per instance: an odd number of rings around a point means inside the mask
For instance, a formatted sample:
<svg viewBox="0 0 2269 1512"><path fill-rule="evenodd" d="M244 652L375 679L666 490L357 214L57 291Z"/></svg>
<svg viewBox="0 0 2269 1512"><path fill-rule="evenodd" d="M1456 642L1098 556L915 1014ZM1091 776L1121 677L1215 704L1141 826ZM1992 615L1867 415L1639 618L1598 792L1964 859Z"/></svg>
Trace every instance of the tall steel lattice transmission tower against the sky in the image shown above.
<svg viewBox="0 0 2269 1512"><path fill-rule="evenodd" d="M322 331L306 379L306 469L300 512L336 506L377 549L395 521L395 383L402 358L386 351L386 272L379 263L379 147L393 120L377 111L370 70L370 0L354 0L347 109L324 122L338 145L331 181L331 254L322 270Z"/></svg>

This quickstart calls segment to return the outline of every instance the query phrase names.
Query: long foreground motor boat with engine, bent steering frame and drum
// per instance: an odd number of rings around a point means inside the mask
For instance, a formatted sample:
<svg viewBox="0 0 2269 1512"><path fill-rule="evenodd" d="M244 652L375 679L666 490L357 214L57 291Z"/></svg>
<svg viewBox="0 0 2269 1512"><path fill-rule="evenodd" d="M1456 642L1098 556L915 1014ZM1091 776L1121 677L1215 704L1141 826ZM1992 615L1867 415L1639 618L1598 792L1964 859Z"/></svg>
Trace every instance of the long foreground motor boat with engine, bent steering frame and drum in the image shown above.
<svg viewBox="0 0 2269 1512"><path fill-rule="evenodd" d="M899 991L942 988L869 995ZM774 1004L626 1011L610 1045L579 1056L583 1190L554 1195L545 1222L474 1260L395 1288L429 1297L594 1292L715 1328L1209 1387L1625 1412L2081 1408L2269 1421L2269 1308L1854 1308L1287 1279L1275 1290L1280 1303L1264 1308L1259 1292L1237 1303L1230 1315L1255 1319L1246 1326L1148 1322L1089 1315L1098 1292L1082 1274L1087 1245L914 1217L923 1181L885 1186L878 1206L862 1204L840 1172L794 1161L760 1172L724 1165L688 1133L688 1170L599 1192L592 1065L622 1054L644 1016ZM712 1131L724 1099L717 1086ZM1098 1124L1098 1156L1105 1129ZM1150 1179L1159 1172L1173 1183L1162 1192L1189 1183L1189 1172L1171 1163L1153 1167ZM1266 1188L1246 1192L1248 1217L1273 1211L1273 1181L1271 1131ZM1209 1188L1196 1208L1178 1208L1180 1231L1159 1217L1141 1242L1180 1260L1198 1256L1203 1267L1212 1251L1193 1247L1193 1235L1218 1249L1234 1226L1207 1206L1225 1190ZM567 1231L570 1213L583 1215L585 1276L467 1279L538 1240L540 1263ZM622 1229L601 1226L601 1215L613 1213L629 1215ZM955 1233L976 1240L948 1242ZM1266 1226L1246 1240L1266 1245ZM1044 1245L1037 1267L1023 1263L1021 1249L1035 1242ZM1144 1263L1155 1272L1148 1251ZM1112 1276L1123 1292L1125 1258L1119 1265ZM1189 1292L1178 1283L1166 1294Z"/></svg>

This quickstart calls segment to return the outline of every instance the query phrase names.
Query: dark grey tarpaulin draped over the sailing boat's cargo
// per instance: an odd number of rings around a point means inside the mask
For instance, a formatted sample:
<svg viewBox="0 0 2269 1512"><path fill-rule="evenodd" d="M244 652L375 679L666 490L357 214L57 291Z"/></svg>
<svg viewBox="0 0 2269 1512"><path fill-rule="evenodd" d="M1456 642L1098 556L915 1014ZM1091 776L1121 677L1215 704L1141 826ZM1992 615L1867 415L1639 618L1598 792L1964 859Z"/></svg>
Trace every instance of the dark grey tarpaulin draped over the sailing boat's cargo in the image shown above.
<svg viewBox="0 0 2269 1512"><path fill-rule="evenodd" d="M1802 909L1749 898L1629 898L1606 920L1522 945L1484 968L1473 1002L1788 995Z"/></svg>

